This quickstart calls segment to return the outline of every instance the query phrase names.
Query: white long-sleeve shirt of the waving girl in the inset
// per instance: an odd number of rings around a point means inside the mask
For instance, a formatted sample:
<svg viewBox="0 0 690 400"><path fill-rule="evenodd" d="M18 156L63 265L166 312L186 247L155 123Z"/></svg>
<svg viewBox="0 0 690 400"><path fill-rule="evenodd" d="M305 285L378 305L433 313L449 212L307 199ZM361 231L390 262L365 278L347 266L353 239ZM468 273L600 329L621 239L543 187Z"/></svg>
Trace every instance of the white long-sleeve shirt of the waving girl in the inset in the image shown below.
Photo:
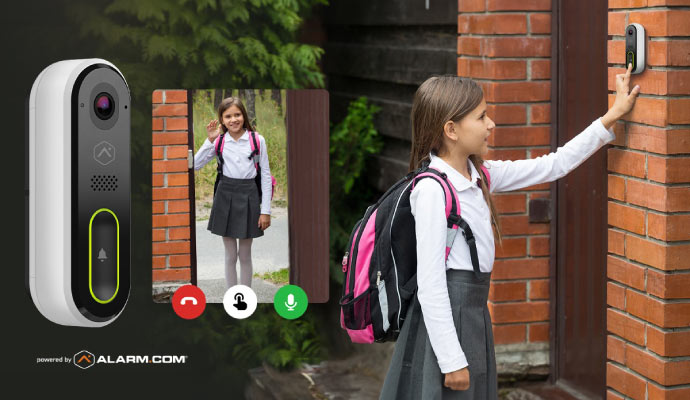
<svg viewBox="0 0 690 400"><path fill-rule="evenodd" d="M271 169L268 165L266 140L256 134L259 140L259 166L261 167L261 214L271 214ZM254 160L249 158L252 152L249 141L251 137L245 129L239 140L235 140L229 133L225 133L223 144L223 175L235 179L253 179L256 177ZM204 140L194 155L194 170L201 169L216 156L216 149L210 140Z"/></svg>

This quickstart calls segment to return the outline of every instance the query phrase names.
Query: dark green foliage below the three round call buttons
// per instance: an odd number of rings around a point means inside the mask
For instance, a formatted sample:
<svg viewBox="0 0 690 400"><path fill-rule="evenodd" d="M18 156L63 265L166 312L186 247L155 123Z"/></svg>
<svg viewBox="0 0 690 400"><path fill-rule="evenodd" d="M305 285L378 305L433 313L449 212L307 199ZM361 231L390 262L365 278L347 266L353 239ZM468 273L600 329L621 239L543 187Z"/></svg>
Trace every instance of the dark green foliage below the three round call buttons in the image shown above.
<svg viewBox="0 0 690 400"><path fill-rule="evenodd" d="M319 362L325 349L315 315L307 310L300 318L287 320L273 304L258 304L250 318L236 320L222 304L208 304L193 324L180 329L180 319L172 312L155 313L153 350L194 354L199 372L208 376L204 384L242 388L249 378L247 371L264 362L281 370Z"/></svg>

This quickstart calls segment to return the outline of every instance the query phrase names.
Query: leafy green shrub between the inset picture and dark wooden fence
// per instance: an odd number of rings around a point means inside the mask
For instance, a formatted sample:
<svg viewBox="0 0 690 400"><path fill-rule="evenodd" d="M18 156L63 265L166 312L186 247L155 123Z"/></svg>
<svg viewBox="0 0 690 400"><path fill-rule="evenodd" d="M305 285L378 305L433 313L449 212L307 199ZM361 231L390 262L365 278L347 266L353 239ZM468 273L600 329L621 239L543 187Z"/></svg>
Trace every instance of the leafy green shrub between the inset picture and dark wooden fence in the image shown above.
<svg viewBox="0 0 690 400"><path fill-rule="evenodd" d="M351 230L376 193L363 182L362 171L383 142L374 126L379 107L365 97L350 103L347 115L331 125L330 136L330 276L342 282L342 257ZM356 188L356 190L353 190Z"/></svg>

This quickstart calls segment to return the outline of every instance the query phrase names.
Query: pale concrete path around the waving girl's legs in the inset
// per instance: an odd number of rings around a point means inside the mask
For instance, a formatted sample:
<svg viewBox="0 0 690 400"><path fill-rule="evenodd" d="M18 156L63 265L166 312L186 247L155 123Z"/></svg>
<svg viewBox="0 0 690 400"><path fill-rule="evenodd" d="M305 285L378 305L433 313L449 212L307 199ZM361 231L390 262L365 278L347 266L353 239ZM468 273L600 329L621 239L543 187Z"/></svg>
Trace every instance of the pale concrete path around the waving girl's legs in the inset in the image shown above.
<svg viewBox="0 0 690 400"><path fill-rule="evenodd" d="M197 283L209 303L222 303L225 286L225 250L223 239L212 234L206 226L208 220L196 223ZM289 267L288 218L286 208L271 209L271 226L262 237L252 242L252 269L254 273L278 271ZM240 262L237 261L237 276ZM252 289L259 303L272 303L280 286L259 278L252 279Z"/></svg>

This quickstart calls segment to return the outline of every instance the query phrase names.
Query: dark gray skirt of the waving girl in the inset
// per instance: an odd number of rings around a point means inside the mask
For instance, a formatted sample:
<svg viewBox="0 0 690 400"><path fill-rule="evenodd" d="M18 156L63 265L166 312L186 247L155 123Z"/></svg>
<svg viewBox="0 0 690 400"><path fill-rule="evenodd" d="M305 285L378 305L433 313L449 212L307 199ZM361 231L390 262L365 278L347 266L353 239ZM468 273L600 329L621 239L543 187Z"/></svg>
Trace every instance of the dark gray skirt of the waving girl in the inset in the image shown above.
<svg viewBox="0 0 690 400"><path fill-rule="evenodd" d="M254 179L223 175L213 196L208 230L220 236L248 239L263 236L259 228L259 189Z"/></svg>

